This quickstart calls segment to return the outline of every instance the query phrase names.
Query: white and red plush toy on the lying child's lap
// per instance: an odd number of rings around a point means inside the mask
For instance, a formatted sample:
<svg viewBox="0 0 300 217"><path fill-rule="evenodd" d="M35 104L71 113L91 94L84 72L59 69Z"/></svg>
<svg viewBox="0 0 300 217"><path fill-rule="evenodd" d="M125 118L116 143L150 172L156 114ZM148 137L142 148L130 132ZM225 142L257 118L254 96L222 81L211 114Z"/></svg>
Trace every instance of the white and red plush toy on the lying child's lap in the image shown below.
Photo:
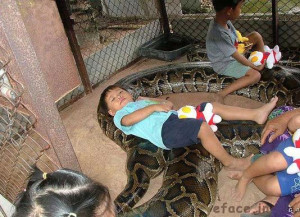
<svg viewBox="0 0 300 217"><path fill-rule="evenodd" d="M186 105L180 108L178 113L178 118L196 118L196 119L203 119L208 123L211 129L216 132L218 127L216 126L217 123L222 121L222 118L219 115L216 115L212 112L213 105L211 103L202 103L198 105L196 108L194 106Z"/></svg>

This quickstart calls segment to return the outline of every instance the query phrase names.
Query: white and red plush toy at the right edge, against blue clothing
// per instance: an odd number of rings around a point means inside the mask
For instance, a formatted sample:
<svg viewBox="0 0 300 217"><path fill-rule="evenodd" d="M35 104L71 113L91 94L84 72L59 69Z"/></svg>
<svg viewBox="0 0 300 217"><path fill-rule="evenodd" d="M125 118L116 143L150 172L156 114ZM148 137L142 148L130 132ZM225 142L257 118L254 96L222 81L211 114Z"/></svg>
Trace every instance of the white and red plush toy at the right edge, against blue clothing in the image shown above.
<svg viewBox="0 0 300 217"><path fill-rule="evenodd" d="M300 129L296 130L292 140L295 147L287 147L284 149L286 155L293 158L293 163L287 168L287 173L297 173L298 176L300 176Z"/></svg>

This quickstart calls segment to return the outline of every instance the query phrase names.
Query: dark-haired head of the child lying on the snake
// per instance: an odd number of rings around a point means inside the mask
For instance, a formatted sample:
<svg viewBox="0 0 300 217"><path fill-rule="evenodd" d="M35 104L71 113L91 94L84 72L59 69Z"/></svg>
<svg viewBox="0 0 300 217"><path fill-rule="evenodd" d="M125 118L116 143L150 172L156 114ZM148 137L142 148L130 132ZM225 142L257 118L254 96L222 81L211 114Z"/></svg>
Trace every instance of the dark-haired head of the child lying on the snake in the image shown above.
<svg viewBox="0 0 300 217"><path fill-rule="evenodd" d="M128 91L118 85L110 85L101 94L98 111L114 116L129 102L133 102L133 97Z"/></svg>

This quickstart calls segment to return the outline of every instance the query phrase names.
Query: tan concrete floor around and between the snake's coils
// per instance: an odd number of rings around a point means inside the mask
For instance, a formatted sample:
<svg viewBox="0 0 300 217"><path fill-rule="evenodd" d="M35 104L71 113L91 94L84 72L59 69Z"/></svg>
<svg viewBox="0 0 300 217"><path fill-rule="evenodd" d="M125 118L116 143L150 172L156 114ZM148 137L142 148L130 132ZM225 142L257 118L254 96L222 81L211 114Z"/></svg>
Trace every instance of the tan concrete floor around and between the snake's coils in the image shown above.
<svg viewBox="0 0 300 217"><path fill-rule="evenodd" d="M186 57L182 57L175 62L187 62ZM108 81L98 86L93 93L78 100L61 112L63 123L68 132L69 138L74 146L82 171L89 177L106 185L114 199L124 188L126 184L126 153L101 131L97 122L97 105L101 92L105 87L114 84L124 76L138 72L147 68L153 68L160 65L170 64L169 62L142 59L131 67L114 75ZM214 95L208 93L199 93L188 98L188 104L199 103L199 98L203 100L213 100ZM171 100L178 106L185 105L180 96L172 96ZM225 104L241 107L255 108L261 104L252 100L229 96ZM143 199L138 203L142 204L148 201L157 192L162 183L162 175L153 179L150 188ZM247 194L242 202L232 200L232 189L236 181L226 177L224 171L219 174L219 200L216 201L210 217L238 217L244 208L254 202L262 199L264 195L250 184Z"/></svg>

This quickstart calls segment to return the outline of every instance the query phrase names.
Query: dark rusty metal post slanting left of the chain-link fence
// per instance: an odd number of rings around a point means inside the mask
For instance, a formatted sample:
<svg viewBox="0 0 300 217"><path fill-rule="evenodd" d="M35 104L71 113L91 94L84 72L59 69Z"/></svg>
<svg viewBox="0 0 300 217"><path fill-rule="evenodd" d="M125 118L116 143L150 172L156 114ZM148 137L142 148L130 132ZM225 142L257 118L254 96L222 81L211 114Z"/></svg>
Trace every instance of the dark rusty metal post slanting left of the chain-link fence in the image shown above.
<svg viewBox="0 0 300 217"><path fill-rule="evenodd" d="M79 71L79 76L82 81L82 85L84 87L84 91L86 94L89 94L92 92L92 85L81 55L80 47L78 45L76 35L73 29L72 21L70 19L70 14L68 12L68 8L66 5L65 0L56 0L56 5L62 20L62 23L64 25L66 35L69 39L69 43L71 46L71 50L73 52L75 62Z"/></svg>

